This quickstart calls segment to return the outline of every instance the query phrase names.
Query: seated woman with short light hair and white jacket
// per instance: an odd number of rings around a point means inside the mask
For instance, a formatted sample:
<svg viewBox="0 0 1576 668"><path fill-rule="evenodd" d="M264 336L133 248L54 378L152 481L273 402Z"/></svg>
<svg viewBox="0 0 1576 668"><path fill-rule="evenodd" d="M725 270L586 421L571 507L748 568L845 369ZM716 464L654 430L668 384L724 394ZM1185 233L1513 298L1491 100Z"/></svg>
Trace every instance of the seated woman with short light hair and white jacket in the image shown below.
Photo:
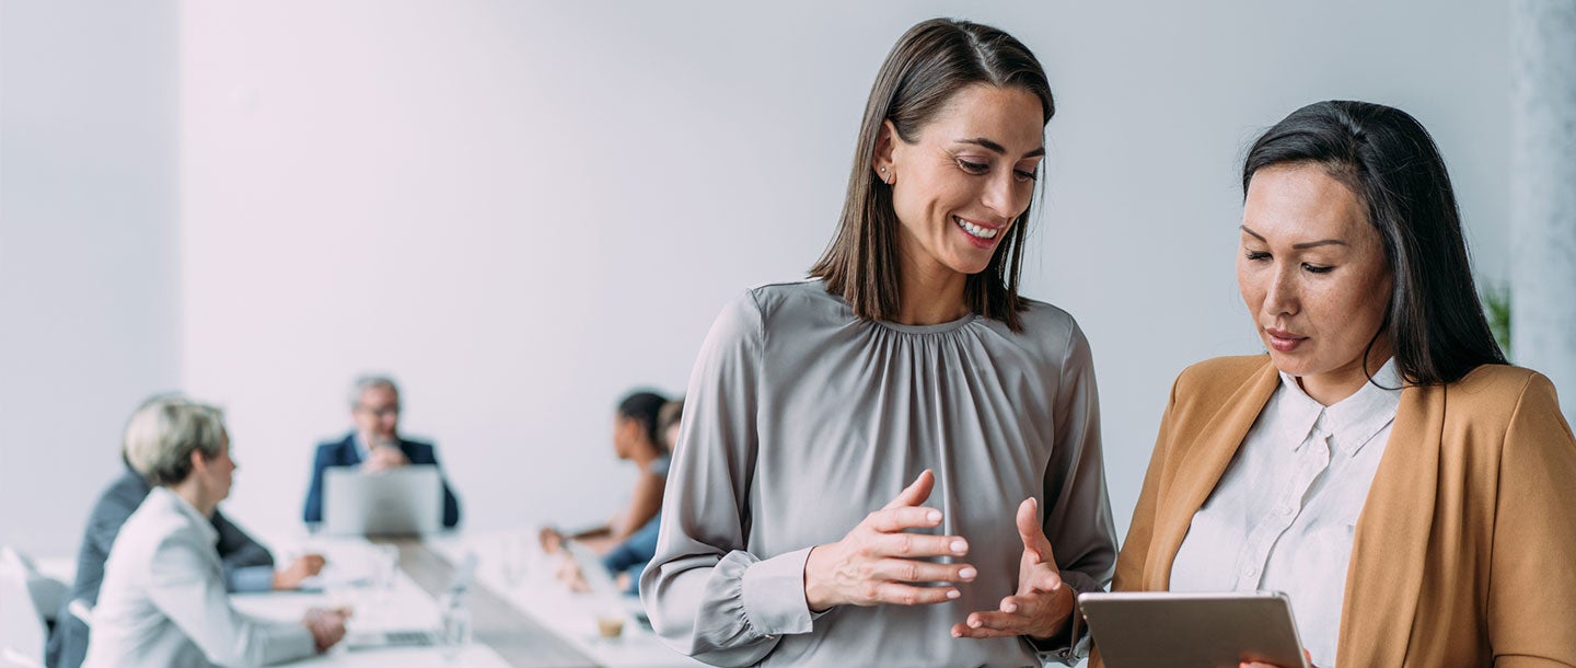
<svg viewBox="0 0 1576 668"><path fill-rule="evenodd" d="M345 635L336 611L277 624L230 607L210 523L236 469L222 411L181 397L150 402L126 425L126 458L156 487L104 564L85 668L258 666Z"/></svg>

